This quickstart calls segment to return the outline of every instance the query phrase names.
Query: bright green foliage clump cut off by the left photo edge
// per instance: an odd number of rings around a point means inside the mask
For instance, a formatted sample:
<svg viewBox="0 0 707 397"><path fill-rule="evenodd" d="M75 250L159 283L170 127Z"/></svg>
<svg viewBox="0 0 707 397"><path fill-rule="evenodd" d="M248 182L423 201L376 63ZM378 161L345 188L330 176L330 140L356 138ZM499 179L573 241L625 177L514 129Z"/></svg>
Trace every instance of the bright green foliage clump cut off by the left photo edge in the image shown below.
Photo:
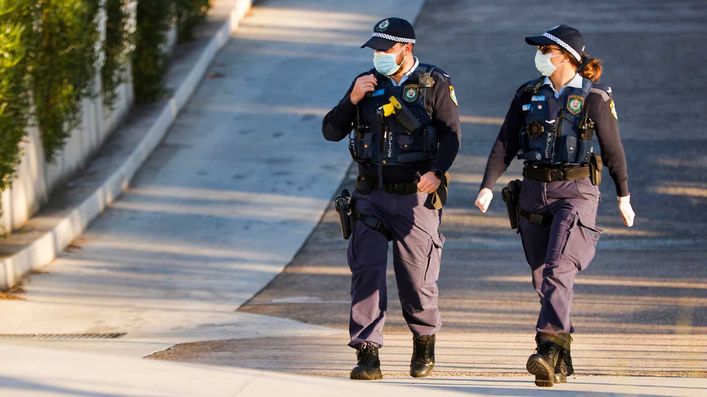
<svg viewBox="0 0 707 397"><path fill-rule="evenodd" d="M30 117L27 52L32 0L0 0L0 191L11 185Z"/></svg>

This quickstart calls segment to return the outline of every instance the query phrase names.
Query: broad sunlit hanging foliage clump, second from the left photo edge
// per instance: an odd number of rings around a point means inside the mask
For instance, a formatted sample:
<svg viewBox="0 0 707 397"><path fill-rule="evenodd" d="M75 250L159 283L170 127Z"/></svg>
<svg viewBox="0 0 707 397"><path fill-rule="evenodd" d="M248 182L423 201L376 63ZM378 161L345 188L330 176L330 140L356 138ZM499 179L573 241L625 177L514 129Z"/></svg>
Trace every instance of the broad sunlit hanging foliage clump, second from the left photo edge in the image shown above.
<svg viewBox="0 0 707 397"><path fill-rule="evenodd" d="M96 0L37 1L30 74L35 119L49 162L81 124L83 99L95 97L99 8Z"/></svg>

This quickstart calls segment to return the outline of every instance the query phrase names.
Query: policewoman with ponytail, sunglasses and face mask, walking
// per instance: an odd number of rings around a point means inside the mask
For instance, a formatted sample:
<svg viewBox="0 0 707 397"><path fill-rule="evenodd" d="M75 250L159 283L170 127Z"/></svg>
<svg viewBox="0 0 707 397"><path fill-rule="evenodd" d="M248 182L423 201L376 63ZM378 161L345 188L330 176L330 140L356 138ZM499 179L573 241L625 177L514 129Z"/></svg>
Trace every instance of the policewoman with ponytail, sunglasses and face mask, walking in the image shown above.
<svg viewBox="0 0 707 397"><path fill-rule="evenodd" d="M537 350L527 369L537 386L552 386L573 373L573 285L576 273L594 257L601 233L595 220L602 163L616 185L626 226L633 225L634 213L612 89L597 83L600 61L584 53L580 32L567 25L525 41L537 46L535 66L542 76L515 93L486 163L476 205L486 212L498 177L516 154L525 160L518 227L542 304ZM592 148L594 134L601 156Z"/></svg>

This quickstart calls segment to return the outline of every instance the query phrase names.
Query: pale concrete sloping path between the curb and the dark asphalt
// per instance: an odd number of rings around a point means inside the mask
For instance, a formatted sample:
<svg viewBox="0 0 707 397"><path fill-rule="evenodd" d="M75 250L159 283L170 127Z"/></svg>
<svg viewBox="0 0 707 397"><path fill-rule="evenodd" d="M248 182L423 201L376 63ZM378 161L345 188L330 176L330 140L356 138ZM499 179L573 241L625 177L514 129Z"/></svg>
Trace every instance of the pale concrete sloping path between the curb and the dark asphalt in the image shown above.
<svg viewBox="0 0 707 397"><path fill-rule="evenodd" d="M235 309L291 261L349 167L320 123L370 67L351 49L381 16L414 20L421 6L256 4L132 186L25 283L23 300L0 301L0 338L22 338L6 349L143 357L200 340L341 333Z"/></svg>

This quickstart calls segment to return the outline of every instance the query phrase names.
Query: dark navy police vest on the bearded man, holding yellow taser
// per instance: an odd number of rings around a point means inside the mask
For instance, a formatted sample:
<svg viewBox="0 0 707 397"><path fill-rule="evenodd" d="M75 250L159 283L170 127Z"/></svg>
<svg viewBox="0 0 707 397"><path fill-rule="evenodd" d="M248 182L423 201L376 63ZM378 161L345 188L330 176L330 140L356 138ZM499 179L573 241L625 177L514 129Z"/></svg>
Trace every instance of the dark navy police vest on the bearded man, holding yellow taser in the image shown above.
<svg viewBox="0 0 707 397"><path fill-rule="evenodd" d="M438 146L437 131L425 108L425 95L434 85L431 71L435 66L419 64L407 81L395 86L389 78L371 69L378 79L375 91L358 102L354 120L355 135L349 136L349 150L356 162L378 165L409 165L431 161ZM380 117L378 109L390 102L390 97L407 107L421 128L408 131L395 115ZM380 170L380 168L379 168ZM380 173L380 171L379 171Z"/></svg>

